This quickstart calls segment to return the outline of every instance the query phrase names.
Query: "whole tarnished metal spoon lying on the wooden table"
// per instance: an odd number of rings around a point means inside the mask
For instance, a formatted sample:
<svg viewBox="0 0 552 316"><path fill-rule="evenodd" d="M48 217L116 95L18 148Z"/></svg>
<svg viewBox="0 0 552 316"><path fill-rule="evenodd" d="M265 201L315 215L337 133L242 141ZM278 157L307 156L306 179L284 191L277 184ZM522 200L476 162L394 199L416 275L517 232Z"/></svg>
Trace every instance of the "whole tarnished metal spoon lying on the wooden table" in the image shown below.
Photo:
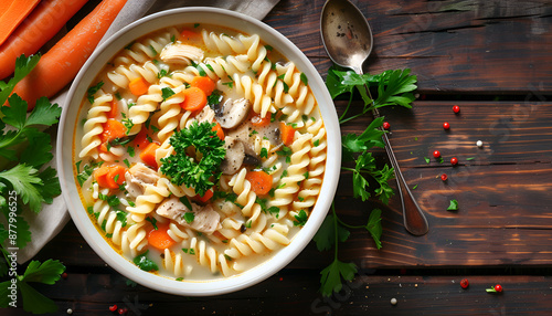
<svg viewBox="0 0 552 316"><path fill-rule="evenodd" d="M373 46L372 30L362 12L349 0L328 0L322 9L320 31L323 46L330 59L342 67L352 69L355 73L362 74L362 64ZM370 95L370 89L368 93ZM370 98L372 98L371 95ZM375 117L380 116L378 109L374 109L373 114ZM406 186L386 134L383 135L383 141L395 170L404 228L414 235L423 235L429 230L427 220Z"/></svg>

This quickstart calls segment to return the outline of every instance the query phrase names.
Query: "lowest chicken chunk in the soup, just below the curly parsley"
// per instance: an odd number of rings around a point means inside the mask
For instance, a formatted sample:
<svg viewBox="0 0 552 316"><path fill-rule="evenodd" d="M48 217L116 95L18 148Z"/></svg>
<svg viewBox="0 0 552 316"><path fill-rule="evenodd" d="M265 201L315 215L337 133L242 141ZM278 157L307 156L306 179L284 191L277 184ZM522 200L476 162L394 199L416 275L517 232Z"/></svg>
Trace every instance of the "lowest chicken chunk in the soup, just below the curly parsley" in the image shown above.
<svg viewBox="0 0 552 316"><path fill-rule="evenodd" d="M177 223L191 228L198 232L212 234L215 230L221 228L221 215L213 209L211 204L200 207L195 203L192 204L192 210L188 209L177 197L164 199L159 204L156 212L167 219L171 219ZM193 221L188 223L184 214L188 212L193 213Z"/></svg>

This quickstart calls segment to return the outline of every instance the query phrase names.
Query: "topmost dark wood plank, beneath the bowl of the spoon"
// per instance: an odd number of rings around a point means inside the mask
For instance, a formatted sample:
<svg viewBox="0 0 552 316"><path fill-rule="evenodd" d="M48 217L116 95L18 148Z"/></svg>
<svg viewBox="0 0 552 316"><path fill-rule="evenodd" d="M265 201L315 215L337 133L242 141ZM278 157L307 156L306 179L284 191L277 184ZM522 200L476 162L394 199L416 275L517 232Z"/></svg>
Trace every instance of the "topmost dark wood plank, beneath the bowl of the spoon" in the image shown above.
<svg viewBox="0 0 552 316"><path fill-rule="evenodd" d="M322 75L331 65L319 35L323 2L280 1L265 19ZM410 67L426 93L552 92L550 1L353 2L374 33L371 73Z"/></svg>

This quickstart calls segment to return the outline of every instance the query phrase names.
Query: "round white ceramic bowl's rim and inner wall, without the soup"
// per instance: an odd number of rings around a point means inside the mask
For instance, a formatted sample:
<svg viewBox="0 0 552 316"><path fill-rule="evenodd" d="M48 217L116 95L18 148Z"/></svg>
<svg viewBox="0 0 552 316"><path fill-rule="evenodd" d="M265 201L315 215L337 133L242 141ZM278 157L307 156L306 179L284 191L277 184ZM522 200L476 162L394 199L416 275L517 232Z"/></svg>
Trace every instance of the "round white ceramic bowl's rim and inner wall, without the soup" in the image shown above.
<svg viewBox="0 0 552 316"><path fill-rule="evenodd" d="M258 34L309 78L309 86L315 94L322 119L328 130L328 157L326 173L318 201L307 224L295 235L291 243L280 250L268 261L238 275L213 281L172 281L152 273L141 271L134 263L119 255L99 234L83 207L77 185L73 176L72 152L73 135L77 125L78 107L86 95L87 87L102 67L127 43L156 30L183 23L204 23L232 28L246 34ZM234 292L254 285L275 274L294 260L310 242L322 223L337 189L341 166L341 136L333 102L315 66L284 35L263 22L251 17L229 10L214 8L184 8L159 12L140 19L104 42L89 57L71 86L67 104L63 110L57 133L57 166L63 190L71 217L92 249L112 267L126 277L153 289L176 295L206 296Z"/></svg>

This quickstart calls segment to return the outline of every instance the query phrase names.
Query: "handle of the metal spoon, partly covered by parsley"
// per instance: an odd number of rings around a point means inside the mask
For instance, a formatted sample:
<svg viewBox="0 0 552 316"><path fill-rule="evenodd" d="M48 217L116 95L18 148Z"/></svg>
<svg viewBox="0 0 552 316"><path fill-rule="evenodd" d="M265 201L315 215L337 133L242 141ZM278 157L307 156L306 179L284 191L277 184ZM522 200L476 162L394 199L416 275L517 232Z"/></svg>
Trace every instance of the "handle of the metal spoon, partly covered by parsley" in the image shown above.
<svg viewBox="0 0 552 316"><path fill-rule="evenodd" d="M380 117L380 112L376 108L373 109L373 114L375 117ZM388 152L391 165L395 171L399 196L401 197L401 204L403 208L404 228L413 235L424 235L429 230L427 219L404 180L403 172L401 172L401 168L399 168L399 162L396 161L393 148L389 143L388 134L383 134L382 138L385 144L385 151Z"/></svg>

